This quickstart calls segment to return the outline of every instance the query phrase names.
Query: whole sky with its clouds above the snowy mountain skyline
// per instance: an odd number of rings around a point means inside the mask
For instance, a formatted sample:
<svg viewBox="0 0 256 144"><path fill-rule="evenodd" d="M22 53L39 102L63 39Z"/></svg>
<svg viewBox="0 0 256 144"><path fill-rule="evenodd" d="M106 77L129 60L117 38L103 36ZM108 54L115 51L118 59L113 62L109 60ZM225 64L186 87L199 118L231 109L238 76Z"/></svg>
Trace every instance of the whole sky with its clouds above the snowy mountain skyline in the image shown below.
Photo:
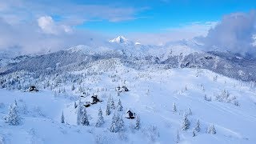
<svg viewBox="0 0 256 144"><path fill-rule="evenodd" d="M242 14L239 26L232 25L234 14ZM255 0L0 0L0 49L59 50L118 35L162 45L206 37L223 19L218 33L232 25L238 34L240 26L254 34L255 15ZM235 38L234 31L226 33Z"/></svg>

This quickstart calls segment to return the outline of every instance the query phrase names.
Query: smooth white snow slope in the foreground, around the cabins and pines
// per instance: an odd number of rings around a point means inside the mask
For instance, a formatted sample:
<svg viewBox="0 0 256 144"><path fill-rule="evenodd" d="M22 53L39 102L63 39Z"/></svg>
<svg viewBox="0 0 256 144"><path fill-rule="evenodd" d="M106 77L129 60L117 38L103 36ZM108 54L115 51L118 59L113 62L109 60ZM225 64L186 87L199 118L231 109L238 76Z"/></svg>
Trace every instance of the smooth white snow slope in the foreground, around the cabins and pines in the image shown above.
<svg viewBox="0 0 256 144"><path fill-rule="evenodd" d="M118 61L97 61L88 66L72 73L30 80L18 78L21 85L30 82L37 86L38 92L22 92L15 86L15 90L1 89L0 142L176 143L177 134L179 143L256 142L256 91L251 83L201 69L134 70ZM16 83L17 79L13 75L6 80ZM129 91L118 94L117 86L126 86ZM229 92L228 97L223 90ZM93 94L102 102L86 108L90 126L77 126L78 108L74 108L74 102L78 104L79 98L82 104L91 102ZM114 99L115 106L120 99L123 111L111 110L111 114L106 115L109 97ZM15 99L22 121L18 126L10 126L3 117ZM96 128L100 107L105 123ZM134 129L135 119L124 117L129 109L140 116L139 130ZM62 111L64 124L61 123ZM118 133L110 132L114 113L121 114L125 123L125 129ZM183 114L188 114L188 130L182 130ZM198 119L201 130L193 137ZM206 133L211 124L216 134Z"/></svg>

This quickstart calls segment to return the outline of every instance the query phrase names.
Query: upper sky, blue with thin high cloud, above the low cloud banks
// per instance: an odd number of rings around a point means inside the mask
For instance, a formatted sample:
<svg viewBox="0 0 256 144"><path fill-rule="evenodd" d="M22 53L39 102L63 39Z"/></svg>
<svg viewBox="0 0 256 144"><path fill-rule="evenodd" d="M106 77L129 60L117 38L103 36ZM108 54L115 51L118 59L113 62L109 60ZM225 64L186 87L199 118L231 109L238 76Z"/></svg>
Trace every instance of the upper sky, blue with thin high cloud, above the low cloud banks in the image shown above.
<svg viewBox="0 0 256 144"><path fill-rule="evenodd" d="M225 14L249 12L255 6L255 0L0 0L0 17L31 22L50 16L75 29L155 33L193 22L218 22Z"/></svg>

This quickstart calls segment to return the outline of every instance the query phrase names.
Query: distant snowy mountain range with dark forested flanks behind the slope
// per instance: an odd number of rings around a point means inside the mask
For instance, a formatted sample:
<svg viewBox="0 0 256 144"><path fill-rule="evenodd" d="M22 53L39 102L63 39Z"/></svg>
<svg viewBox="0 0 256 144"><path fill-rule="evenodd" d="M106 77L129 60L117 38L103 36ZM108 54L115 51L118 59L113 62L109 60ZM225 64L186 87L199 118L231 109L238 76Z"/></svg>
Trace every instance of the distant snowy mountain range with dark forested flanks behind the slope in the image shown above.
<svg viewBox="0 0 256 144"><path fill-rule="evenodd" d="M79 45L50 54L26 58L22 62L11 65L3 65L0 67L0 74L10 74L18 70L39 70L38 73L46 70L64 72L65 70L74 70L72 66L81 70L88 62L116 58L133 68L154 65L164 69L202 68L213 70L230 78L256 81L256 76L253 74L256 72L256 62L253 60L238 58L238 55L220 51L204 52L198 50L197 46L203 45L195 41L172 42L166 46L123 45L113 42L107 42L103 46Z"/></svg>

